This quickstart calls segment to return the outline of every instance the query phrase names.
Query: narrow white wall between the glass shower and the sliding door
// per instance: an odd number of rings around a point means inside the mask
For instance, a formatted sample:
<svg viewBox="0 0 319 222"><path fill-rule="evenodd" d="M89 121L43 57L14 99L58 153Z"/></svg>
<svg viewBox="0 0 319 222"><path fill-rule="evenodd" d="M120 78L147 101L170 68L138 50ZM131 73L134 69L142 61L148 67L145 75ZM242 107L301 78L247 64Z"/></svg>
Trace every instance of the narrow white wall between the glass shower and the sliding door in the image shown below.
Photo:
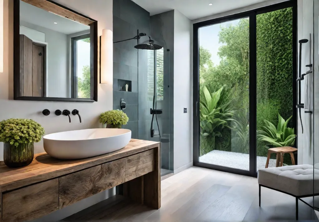
<svg viewBox="0 0 319 222"><path fill-rule="evenodd" d="M191 20L174 10L174 171L193 161L191 38Z"/></svg>

